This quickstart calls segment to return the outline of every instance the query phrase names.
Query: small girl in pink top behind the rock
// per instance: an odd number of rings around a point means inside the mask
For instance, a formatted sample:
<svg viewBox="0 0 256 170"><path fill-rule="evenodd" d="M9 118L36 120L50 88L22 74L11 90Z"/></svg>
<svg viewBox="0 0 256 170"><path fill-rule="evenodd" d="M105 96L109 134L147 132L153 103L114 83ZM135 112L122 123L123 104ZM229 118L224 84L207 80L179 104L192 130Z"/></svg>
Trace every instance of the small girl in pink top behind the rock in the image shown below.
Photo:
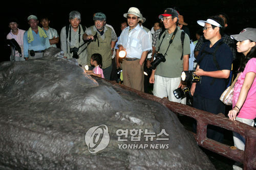
<svg viewBox="0 0 256 170"><path fill-rule="evenodd" d="M101 78L105 78L103 75L102 67L102 57L100 54L93 54L91 57L91 65L94 66L93 70L88 70L86 73L89 75L98 76Z"/></svg>

